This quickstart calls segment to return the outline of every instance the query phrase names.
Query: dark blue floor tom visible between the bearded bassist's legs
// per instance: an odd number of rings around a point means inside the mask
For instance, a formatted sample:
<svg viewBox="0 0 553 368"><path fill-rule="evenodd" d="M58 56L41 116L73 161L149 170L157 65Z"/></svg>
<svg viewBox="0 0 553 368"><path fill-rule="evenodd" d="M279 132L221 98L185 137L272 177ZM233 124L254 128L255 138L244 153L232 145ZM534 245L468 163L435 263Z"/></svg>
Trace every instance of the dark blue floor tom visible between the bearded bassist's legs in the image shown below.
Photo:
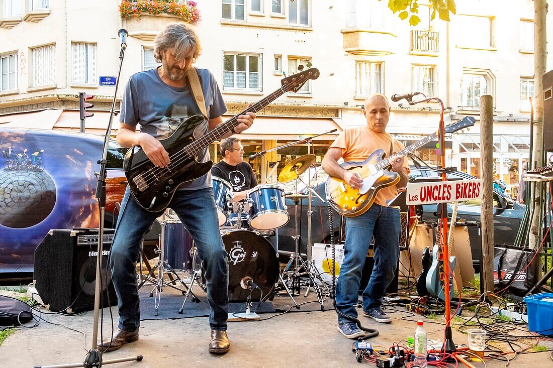
<svg viewBox="0 0 553 368"><path fill-rule="evenodd" d="M161 222L163 255L175 270L192 271L192 236L180 220Z"/></svg>

